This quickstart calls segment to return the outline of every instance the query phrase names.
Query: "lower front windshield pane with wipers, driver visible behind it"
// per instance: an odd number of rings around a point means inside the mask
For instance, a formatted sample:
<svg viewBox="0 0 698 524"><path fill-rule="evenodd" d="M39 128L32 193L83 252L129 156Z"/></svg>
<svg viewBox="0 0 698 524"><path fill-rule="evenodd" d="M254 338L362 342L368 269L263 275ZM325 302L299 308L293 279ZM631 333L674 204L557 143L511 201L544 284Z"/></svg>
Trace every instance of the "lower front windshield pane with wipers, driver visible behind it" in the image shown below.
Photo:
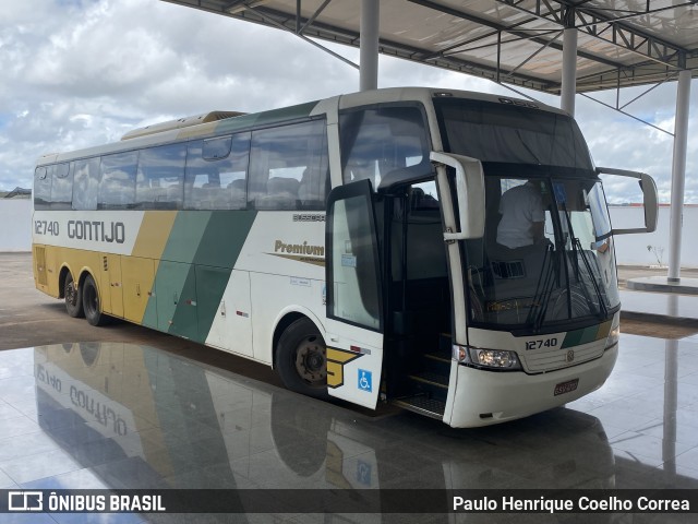
<svg viewBox="0 0 698 524"><path fill-rule="evenodd" d="M466 242L472 324L540 332L609 320L619 295L601 183L488 177L485 186L485 236Z"/></svg>

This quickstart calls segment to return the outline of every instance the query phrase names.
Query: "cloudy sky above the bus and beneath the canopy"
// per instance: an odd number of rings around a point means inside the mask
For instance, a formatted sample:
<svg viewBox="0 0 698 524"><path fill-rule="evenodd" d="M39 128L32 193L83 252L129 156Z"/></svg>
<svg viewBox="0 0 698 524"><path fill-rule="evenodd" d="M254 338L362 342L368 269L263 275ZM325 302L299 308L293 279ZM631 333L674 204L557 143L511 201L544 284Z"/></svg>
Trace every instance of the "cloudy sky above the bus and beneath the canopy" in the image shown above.
<svg viewBox="0 0 698 524"><path fill-rule="evenodd" d="M358 50L333 47L358 62ZM695 82L694 82L695 84ZM513 95L489 81L382 57L378 85ZM36 158L119 140L212 109L245 112L357 91L358 71L288 33L159 0L5 1L0 14L0 190L29 188ZM630 100L645 90L625 90ZM529 93L558 106L557 97ZM597 94L609 103L615 93ZM674 128L676 83L626 110ZM673 139L577 97L597 165L652 175L671 194ZM686 202L698 203L698 86L691 92ZM607 188L611 200L623 194Z"/></svg>

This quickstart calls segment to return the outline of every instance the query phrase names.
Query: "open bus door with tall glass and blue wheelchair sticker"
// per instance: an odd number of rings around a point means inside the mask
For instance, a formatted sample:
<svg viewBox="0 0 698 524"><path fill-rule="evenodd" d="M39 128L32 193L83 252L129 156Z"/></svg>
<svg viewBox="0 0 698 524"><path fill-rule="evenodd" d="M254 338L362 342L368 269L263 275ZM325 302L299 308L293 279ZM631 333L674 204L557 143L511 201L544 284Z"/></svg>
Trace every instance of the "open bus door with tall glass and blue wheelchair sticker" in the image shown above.
<svg viewBox="0 0 698 524"><path fill-rule="evenodd" d="M329 193L325 229L327 392L375 408L383 365L383 285L369 180Z"/></svg>

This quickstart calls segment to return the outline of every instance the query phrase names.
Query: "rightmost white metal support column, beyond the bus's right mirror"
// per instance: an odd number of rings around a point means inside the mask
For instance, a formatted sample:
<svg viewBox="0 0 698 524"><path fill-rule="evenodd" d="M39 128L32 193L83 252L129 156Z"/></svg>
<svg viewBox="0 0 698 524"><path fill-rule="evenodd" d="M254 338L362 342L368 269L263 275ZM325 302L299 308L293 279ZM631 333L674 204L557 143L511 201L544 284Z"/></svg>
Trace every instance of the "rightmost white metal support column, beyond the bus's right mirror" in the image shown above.
<svg viewBox="0 0 698 524"><path fill-rule="evenodd" d="M688 141L688 111L690 71L678 73L676 116L674 117L674 160L672 163L672 201L669 225L669 282L679 282L681 230L684 222L684 187L686 182L686 146Z"/></svg>

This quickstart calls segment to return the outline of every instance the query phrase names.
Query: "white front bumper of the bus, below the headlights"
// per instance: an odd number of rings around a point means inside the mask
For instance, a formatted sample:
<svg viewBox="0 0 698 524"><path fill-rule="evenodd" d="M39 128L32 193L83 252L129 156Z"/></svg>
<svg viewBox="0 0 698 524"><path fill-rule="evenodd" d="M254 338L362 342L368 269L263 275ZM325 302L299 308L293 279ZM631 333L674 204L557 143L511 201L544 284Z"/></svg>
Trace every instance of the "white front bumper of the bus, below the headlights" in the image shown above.
<svg viewBox="0 0 698 524"><path fill-rule="evenodd" d="M541 374L483 371L452 362L456 369L452 368L450 383L455 378L456 386L446 404L444 421L454 428L473 428L562 406L599 389L617 356L615 344L598 359ZM575 383L576 388L567 391Z"/></svg>

